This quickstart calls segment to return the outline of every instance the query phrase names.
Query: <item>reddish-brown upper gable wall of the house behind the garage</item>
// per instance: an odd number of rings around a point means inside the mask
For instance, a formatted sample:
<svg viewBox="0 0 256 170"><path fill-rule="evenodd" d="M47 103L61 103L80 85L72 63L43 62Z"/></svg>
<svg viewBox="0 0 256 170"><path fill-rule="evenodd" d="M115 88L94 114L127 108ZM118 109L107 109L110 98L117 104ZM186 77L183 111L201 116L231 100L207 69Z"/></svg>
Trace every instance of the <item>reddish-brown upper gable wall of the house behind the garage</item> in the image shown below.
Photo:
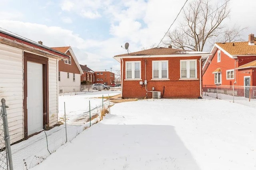
<svg viewBox="0 0 256 170"><path fill-rule="evenodd" d="M70 52L66 52L67 55L71 56ZM59 60L59 71L60 72L69 72L69 73L75 73L75 74L80 74L80 71L78 67L76 66L76 63L71 57L71 64L66 64L64 63L64 60Z"/></svg>

